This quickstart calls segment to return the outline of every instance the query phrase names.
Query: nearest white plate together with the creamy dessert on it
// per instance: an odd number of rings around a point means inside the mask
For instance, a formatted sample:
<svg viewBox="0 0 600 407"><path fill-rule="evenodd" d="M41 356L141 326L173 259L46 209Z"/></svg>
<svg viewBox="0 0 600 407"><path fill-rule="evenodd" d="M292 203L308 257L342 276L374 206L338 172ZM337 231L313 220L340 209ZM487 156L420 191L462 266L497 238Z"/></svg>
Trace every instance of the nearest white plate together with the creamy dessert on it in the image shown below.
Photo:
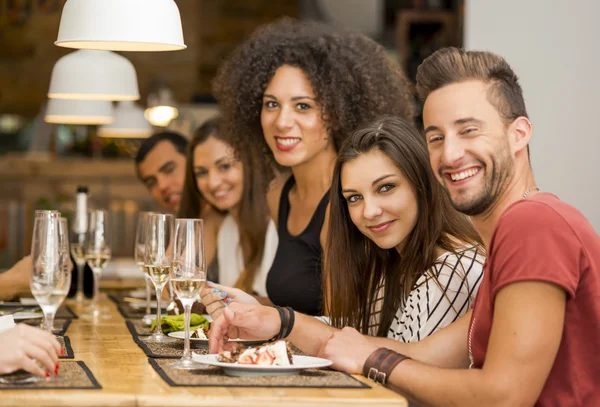
<svg viewBox="0 0 600 407"><path fill-rule="evenodd" d="M218 355L192 353L194 362L218 366L229 376L282 376L294 375L304 369L331 366L328 359L292 355L289 343L281 340L257 347L240 346Z"/></svg>

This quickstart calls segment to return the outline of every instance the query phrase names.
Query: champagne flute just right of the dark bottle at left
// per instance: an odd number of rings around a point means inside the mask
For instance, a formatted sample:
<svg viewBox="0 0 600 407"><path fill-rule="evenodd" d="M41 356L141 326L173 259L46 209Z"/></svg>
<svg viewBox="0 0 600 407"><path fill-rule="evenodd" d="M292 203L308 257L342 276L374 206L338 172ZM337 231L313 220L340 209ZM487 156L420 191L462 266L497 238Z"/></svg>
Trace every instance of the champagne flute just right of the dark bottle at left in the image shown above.
<svg viewBox="0 0 600 407"><path fill-rule="evenodd" d="M85 260L94 274L94 296L87 319L110 319L110 315L100 312L98 299L100 293L100 275L111 258L110 232L108 230L108 213L104 210L91 210L88 218L88 234L85 250Z"/></svg>

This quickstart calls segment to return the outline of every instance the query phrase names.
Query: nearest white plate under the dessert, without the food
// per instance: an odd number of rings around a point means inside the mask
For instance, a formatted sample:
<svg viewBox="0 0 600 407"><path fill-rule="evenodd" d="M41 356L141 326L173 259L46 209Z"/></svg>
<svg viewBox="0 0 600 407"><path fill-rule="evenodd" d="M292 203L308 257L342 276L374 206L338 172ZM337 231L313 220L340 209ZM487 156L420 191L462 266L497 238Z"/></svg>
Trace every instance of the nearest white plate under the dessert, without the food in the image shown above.
<svg viewBox="0 0 600 407"><path fill-rule="evenodd" d="M284 376L300 373L304 369L319 369L333 364L331 360L316 358L313 356L292 356L293 365L290 366L262 366L262 365L238 365L237 363L219 362L218 355L198 355L192 353L194 362L205 365L218 366L229 376Z"/></svg>

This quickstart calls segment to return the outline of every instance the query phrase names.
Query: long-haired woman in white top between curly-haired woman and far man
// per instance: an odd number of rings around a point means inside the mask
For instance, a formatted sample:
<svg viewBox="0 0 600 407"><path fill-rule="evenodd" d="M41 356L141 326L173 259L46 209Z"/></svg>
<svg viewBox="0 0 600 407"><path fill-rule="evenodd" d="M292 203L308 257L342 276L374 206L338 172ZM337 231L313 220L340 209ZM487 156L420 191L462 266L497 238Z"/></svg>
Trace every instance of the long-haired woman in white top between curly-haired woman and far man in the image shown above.
<svg viewBox="0 0 600 407"><path fill-rule="evenodd" d="M252 193L260 174L236 159L220 122L206 121L188 145L179 217L204 219L209 279L266 297L277 231L264 195Z"/></svg>

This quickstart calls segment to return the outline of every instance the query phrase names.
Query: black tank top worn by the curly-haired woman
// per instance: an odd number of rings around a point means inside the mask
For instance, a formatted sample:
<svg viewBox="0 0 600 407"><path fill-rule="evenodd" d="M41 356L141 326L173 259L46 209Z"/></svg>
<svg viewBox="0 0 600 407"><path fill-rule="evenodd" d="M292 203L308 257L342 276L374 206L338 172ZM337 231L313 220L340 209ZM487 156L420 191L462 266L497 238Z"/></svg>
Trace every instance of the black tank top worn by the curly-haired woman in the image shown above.
<svg viewBox="0 0 600 407"><path fill-rule="evenodd" d="M275 305L289 306L303 314L322 315L323 250L320 236L329 203L329 191L321 198L306 229L292 236L288 232L287 221L290 214L289 193L295 182L294 176L291 176L279 198L279 245L267 276L267 293Z"/></svg>

